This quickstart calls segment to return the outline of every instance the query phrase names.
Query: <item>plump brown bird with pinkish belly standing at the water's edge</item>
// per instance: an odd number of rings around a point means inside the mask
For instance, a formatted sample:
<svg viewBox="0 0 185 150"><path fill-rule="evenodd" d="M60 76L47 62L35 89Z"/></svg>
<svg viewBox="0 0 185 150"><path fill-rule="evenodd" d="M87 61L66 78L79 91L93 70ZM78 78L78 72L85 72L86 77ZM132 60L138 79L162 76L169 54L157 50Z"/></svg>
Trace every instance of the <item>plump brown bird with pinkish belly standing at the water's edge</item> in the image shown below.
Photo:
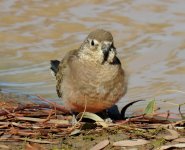
<svg viewBox="0 0 185 150"><path fill-rule="evenodd" d="M50 64L58 97L70 112L104 111L127 91L126 72L117 57L113 36L104 29L90 32L79 48Z"/></svg>

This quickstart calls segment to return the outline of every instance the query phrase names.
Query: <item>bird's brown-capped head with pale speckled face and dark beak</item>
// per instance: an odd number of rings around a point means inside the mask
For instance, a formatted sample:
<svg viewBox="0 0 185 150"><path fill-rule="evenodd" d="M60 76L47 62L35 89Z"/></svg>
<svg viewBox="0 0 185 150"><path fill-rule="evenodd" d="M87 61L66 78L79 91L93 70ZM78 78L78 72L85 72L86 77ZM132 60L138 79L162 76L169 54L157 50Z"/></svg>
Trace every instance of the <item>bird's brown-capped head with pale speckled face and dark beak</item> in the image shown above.
<svg viewBox="0 0 185 150"><path fill-rule="evenodd" d="M103 29L91 32L81 45L79 55L101 64L112 63L116 56L112 34Z"/></svg>

